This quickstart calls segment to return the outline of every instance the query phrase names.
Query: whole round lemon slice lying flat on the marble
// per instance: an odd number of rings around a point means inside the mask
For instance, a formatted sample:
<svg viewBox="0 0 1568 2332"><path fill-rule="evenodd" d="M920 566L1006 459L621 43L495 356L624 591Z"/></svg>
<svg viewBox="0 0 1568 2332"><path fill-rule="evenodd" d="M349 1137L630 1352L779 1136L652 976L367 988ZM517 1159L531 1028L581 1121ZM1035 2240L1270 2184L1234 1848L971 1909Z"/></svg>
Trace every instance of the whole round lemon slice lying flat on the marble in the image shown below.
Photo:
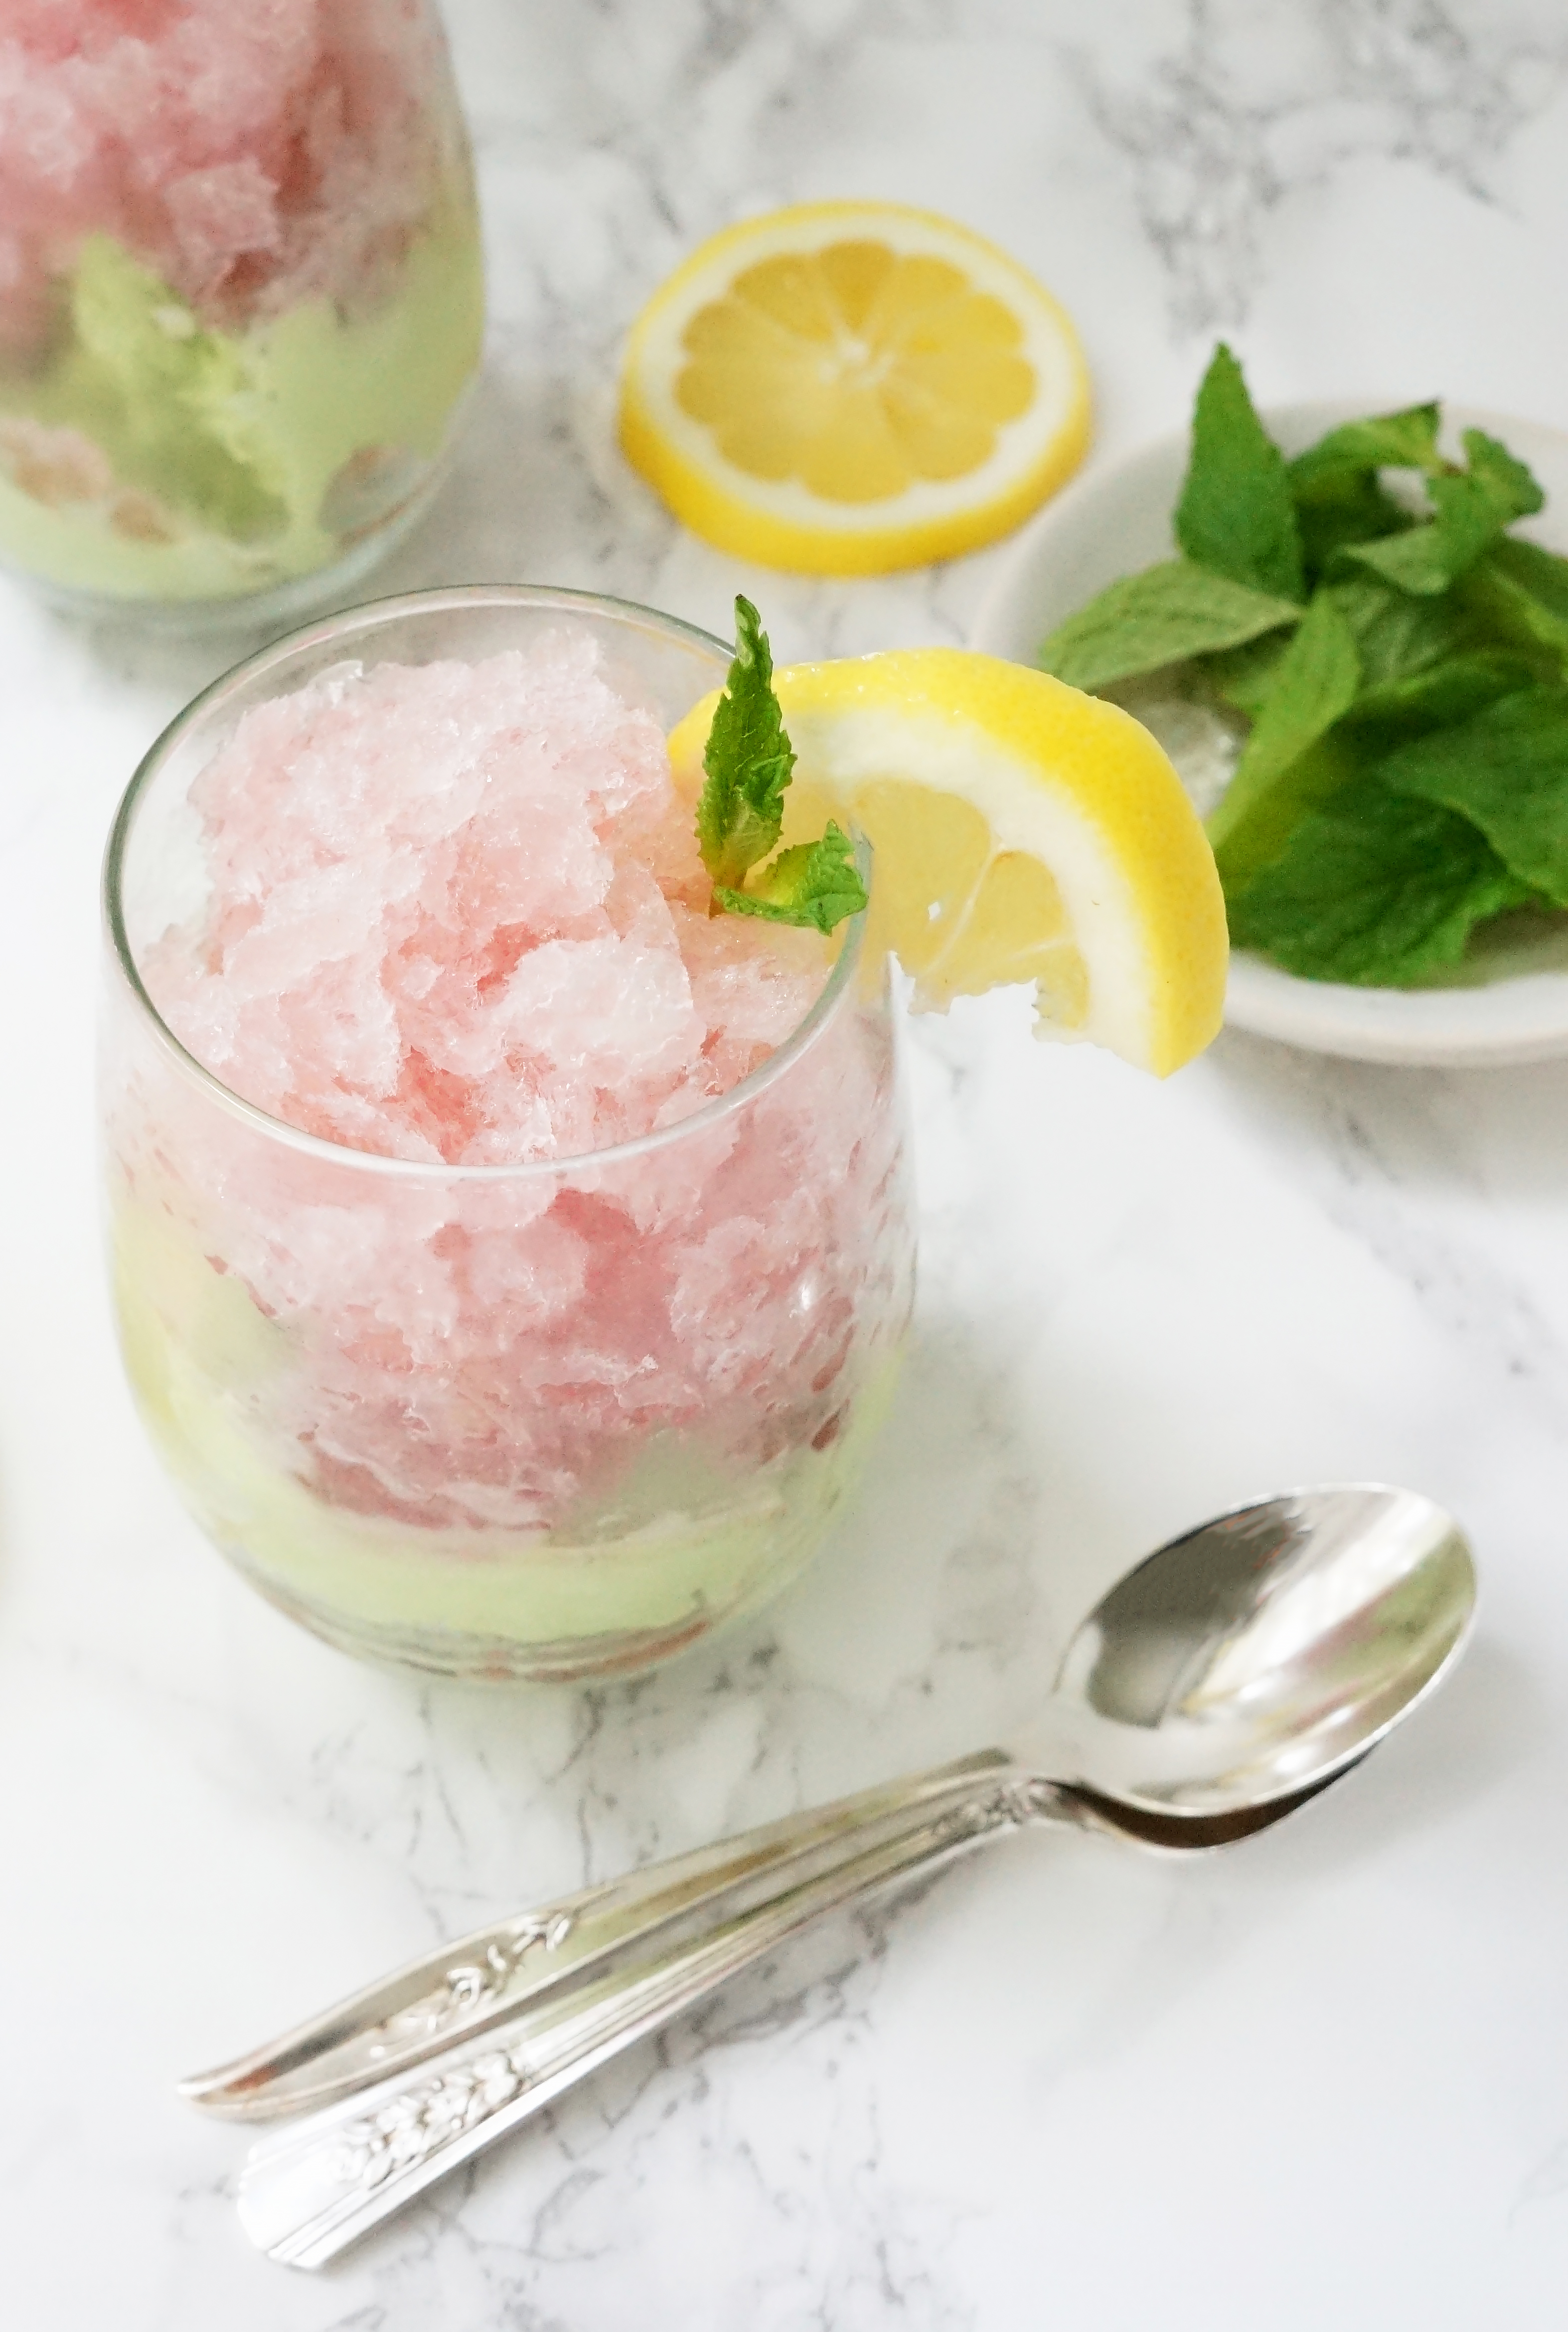
<svg viewBox="0 0 1568 2332"><path fill-rule="evenodd" d="M1087 443L1090 378L1050 292L901 203L714 236L642 310L621 375L621 445L677 518L805 574L975 550Z"/></svg>

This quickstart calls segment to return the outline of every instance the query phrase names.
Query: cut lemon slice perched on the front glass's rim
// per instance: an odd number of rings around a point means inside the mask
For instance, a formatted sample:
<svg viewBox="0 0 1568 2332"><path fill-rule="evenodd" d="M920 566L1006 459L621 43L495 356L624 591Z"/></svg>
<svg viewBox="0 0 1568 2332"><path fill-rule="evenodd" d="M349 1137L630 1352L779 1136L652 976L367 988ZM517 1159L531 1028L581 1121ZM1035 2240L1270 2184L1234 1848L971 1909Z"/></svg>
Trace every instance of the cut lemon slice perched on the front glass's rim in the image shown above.
<svg viewBox="0 0 1568 2332"><path fill-rule="evenodd" d="M1129 714L961 648L791 665L775 688L796 749L784 842L828 816L870 837L868 942L915 975L917 1005L1034 982L1041 1035L1162 1077L1216 1035L1213 851ZM693 798L714 704L670 737Z"/></svg>

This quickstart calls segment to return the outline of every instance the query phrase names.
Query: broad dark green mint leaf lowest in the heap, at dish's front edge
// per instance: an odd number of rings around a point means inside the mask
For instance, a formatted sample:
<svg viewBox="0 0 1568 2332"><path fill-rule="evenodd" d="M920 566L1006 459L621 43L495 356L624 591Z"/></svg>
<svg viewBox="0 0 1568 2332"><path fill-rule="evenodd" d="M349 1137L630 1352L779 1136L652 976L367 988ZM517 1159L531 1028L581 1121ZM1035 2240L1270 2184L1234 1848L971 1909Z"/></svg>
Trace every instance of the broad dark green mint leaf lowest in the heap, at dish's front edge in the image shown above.
<svg viewBox="0 0 1568 2332"><path fill-rule="evenodd" d="M1227 900L1230 937L1307 979L1414 986L1528 895L1470 819L1370 781L1304 819Z"/></svg>

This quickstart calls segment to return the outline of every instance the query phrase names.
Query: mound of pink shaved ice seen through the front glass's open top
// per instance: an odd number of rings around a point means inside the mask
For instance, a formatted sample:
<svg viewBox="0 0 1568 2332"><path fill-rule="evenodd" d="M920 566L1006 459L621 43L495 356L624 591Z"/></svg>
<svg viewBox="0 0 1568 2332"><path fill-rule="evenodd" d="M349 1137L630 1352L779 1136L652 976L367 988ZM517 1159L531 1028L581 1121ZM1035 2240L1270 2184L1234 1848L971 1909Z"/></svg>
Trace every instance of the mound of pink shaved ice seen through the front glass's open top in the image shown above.
<svg viewBox="0 0 1568 2332"><path fill-rule="evenodd" d="M702 1108L821 993L814 933L709 916L658 723L588 634L343 669L191 788L210 895L145 965L273 1117L446 1166L583 1157Z"/></svg>

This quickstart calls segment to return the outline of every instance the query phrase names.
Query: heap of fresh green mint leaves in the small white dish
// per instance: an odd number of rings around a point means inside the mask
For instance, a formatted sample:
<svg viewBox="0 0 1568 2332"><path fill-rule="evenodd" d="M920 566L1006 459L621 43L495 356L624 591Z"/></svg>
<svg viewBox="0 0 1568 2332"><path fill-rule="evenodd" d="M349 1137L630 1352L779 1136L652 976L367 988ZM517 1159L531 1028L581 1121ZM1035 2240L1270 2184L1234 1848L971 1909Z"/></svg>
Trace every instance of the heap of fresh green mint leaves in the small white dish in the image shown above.
<svg viewBox="0 0 1568 2332"><path fill-rule="evenodd" d="M1311 979L1409 986L1519 907L1568 907L1568 560L1542 508L1440 406L1286 462L1220 345L1174 511L1181 560L1122 576L1045 641L1080 688L1164 667L1251 721L1209 821L1230 933Z"/></svg>

